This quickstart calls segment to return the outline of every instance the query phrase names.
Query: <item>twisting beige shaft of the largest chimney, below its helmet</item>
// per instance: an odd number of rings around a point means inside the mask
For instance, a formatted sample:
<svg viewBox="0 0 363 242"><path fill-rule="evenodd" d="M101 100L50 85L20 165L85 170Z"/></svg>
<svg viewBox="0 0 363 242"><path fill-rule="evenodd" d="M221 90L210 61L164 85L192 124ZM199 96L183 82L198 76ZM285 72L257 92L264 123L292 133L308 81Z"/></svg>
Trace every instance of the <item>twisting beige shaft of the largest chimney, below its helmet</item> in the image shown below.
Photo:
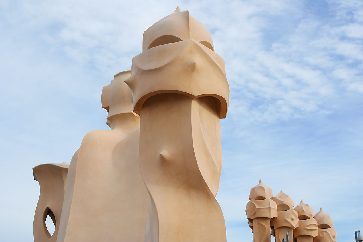
<svg viewBox="0 0 363 242"><path fill-rule="evenodd" d="M151 196L145 241L226 239L215 199L221 148L213 103L211 97L159 94L141 110L140 171Z"/></svg>

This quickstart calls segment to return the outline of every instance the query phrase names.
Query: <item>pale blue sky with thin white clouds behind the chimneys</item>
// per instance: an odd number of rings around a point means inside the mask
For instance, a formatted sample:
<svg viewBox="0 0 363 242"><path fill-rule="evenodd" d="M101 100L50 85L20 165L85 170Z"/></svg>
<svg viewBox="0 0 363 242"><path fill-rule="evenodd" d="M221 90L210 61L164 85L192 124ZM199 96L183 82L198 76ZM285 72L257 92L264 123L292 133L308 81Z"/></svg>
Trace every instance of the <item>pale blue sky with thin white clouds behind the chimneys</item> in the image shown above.
<svg viewBox="0 0 363 242"><path fill-rule="evenodd" d="M69 162L109 129L102 87L130 70L142 34L182 11L212 34L231 90L217 194L227 242L252 241L258 180L363 231L363 1L0 1L0 234L33 240L32 168Z"/></svg>

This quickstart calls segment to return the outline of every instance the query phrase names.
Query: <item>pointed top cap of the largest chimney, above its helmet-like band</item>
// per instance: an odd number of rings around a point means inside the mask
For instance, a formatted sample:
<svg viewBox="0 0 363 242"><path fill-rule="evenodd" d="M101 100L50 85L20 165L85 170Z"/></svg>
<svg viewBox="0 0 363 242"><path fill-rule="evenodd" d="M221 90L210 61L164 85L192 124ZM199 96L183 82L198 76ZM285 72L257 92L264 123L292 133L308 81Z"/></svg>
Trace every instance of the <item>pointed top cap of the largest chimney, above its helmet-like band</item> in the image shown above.
<svg viewBox="0 0 363 242"><path fill-rule="evenodd" d="M212 36L208 29L179 7L144 32L142 51L155 46L193 39L214 51Z"/></svg>

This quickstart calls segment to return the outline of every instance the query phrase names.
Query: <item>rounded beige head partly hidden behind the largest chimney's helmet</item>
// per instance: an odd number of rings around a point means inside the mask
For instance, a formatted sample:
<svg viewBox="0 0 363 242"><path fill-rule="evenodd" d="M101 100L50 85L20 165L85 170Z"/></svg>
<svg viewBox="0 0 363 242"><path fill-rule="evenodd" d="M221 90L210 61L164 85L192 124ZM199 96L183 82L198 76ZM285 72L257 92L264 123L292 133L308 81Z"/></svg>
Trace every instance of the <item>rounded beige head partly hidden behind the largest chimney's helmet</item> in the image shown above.
<svg viewBox="0 0 363 242"><path fill-rule="evenodd" d="M107 119L116 114L132 113L132 93L124 82L131 71L122 71L114 76L110 85L102 89L102 107L108 112Z"/></svg>

